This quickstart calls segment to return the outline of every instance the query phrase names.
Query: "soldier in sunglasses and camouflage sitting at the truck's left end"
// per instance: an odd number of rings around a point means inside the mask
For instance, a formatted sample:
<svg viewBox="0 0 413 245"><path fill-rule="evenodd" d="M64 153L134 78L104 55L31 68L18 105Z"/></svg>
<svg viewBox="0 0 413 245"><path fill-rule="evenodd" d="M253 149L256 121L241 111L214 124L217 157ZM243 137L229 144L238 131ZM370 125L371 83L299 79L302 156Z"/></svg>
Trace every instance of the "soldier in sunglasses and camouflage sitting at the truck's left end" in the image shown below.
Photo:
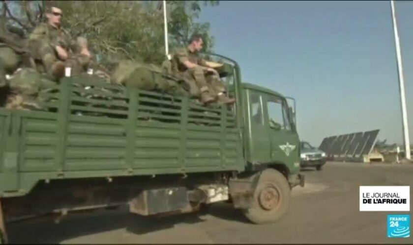
<svg viewBox="0 0 413 245"><path fill-rule="evenodd" d="M37 25L29 36L29 49L38 69L43 69L54 80L64 76L65 66L71 67L74 73L81 73L91 56L86 39L75 41L61 27L62 16L61 9L48 8L47 23Z"/></svg>

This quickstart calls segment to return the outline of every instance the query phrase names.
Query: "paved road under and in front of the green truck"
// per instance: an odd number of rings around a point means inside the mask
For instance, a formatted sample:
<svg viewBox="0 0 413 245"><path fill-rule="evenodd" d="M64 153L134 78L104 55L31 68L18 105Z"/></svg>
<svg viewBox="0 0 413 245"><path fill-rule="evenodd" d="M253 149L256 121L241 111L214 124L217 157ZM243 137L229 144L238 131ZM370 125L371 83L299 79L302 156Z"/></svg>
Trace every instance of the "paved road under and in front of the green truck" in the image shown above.
<svg viewBox="0 0 413 245"><path fill-rule="evenodd" d="M386 238L389 212L358 211L359 185L413 186L412 165L327 163L321 172L308 169L303 173L306 186L293 191L289 213L274 224L251 224L230 204L217 203L204 216L148 219L120 209L72 215L59 224L25 221L9 225L10 240L63 244L413 243L412 237Z"/></svg>

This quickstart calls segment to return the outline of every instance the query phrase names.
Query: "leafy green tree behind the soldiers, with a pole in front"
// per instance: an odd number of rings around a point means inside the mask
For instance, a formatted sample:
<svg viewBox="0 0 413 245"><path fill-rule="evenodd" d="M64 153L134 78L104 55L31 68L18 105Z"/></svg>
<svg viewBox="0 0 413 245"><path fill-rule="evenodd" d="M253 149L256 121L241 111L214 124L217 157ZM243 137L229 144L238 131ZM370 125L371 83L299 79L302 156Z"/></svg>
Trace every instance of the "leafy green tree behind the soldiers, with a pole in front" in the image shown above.
<svg viewBox="0 0 413 245"><path fill-rule="evenodd" d="M169 47L187 45L194 33L204 36L205 50L213 47L209 23L197 23L200 1L168 0ZM216 0L204 1L215 6ZM63 27L85 36L93 53L103 60L133 59L160 64L165 59L162 1L3 1L2 13L27 35L44 19L44 9L63 10Z"/></svg>

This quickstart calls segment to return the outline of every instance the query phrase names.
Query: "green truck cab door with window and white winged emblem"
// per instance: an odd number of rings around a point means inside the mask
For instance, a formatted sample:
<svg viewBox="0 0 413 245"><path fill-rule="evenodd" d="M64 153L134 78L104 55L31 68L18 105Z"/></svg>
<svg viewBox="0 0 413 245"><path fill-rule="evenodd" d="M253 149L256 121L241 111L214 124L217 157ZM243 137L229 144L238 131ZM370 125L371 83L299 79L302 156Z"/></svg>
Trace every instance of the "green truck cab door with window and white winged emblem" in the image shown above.
<svg viewBox="0 0 413 245"><path fill-rule="evenodd" d="M287 101L275 95L266 95L266 126L271 142L271 160L292 166L299 162L299 139L290 119Z"/></svg>

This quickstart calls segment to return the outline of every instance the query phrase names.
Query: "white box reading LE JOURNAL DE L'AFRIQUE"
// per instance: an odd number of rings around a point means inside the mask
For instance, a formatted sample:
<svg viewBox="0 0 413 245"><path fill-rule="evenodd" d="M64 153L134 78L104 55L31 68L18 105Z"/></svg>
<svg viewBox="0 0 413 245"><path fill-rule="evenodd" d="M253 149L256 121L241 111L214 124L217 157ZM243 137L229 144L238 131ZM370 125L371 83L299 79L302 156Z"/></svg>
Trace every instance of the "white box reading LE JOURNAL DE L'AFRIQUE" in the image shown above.
<svg viewBox="0 0 413 245"><path fill-rule="evenodd" d="M385 195L388 197L383 197ZM370 200L371 203L363 203L363 199L364 202ZM390 199L390 202L386 203L388 201L385 199ZM398 203L403 199L406 199L406 203ZM394 200L397 203L392 203ZM384 203L379 203L383 201ZM360 211L410 212L410 186L360 186L359 204Z"/></svg>

